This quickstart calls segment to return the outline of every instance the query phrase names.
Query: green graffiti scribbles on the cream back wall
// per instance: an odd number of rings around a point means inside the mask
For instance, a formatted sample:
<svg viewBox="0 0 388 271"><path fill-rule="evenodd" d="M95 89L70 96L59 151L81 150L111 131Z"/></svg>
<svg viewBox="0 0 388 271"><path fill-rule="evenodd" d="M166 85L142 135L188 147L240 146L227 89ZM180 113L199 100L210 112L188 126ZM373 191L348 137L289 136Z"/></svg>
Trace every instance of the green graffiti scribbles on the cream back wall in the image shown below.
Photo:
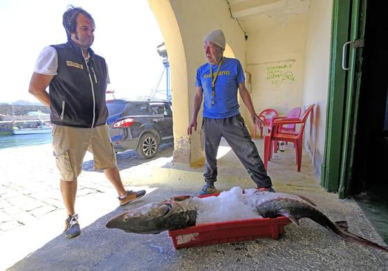
<svg viewBox="0 0 388 271"><path fill-rule="evenodd" d="M281 61L275 65L272 63L272 65L267 66L266 80L275 86L295 82L293 62L295 61Z"/></svg>

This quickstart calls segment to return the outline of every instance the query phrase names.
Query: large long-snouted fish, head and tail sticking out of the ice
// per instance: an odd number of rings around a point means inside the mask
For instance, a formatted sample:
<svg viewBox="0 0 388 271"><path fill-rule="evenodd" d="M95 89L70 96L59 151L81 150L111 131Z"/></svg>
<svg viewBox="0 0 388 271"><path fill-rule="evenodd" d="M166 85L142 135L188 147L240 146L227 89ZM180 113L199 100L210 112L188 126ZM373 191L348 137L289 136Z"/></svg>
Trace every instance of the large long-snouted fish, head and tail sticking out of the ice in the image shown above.
<svg viewBox="0 0 388 271"><path fill-rule="evenodd" d="M118 228L125 232L140 234L156 234L165 230L187 228L196 225L198 212L202 207L201 200L203 199L198 197L180 196L158 203L149 203L140 208L118 214L108 221L107 228ZM388 252L387 246L373 243L349 232L347 221L331 221L325 214L315 208L312 201L305 197L249 189L245 191L241 200L244 205L261 217L284 216L295 225L299 225L299 219L308 218L345 241Z"/></svg>

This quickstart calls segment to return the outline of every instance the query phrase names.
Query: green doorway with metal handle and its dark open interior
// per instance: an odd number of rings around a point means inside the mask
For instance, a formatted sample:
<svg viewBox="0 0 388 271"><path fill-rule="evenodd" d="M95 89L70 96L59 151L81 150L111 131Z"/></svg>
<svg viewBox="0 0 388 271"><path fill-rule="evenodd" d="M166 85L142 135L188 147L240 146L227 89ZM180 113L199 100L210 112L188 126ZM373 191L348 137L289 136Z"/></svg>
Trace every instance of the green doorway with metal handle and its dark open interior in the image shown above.
<svg viewBox="0 0 388 271"><path fill-rule="evenodd" d="M333 3L322 186L342 199L353 196L388 242L388 3Z"/></svg>

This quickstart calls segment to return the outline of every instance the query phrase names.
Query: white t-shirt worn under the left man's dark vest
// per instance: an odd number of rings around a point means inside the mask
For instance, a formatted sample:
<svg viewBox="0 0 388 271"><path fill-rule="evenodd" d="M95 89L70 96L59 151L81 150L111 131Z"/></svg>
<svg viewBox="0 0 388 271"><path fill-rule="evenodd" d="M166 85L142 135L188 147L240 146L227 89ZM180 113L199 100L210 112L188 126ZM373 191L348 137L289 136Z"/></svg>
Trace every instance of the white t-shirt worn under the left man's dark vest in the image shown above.
<svg viewBox="0 0 388 271"><path fill-rule="evenodd" d="M85 59L87 61L87 59ZM107 63L107 62L105 62ZM107 64L106 64L107 65ZM52 46L47 46L41 50L37 61L35 62L34 72L46 75L57 75L58 70L58 54L57 50ZM111 83L109 79L109 70L107 65L107 83Z"/></svg>

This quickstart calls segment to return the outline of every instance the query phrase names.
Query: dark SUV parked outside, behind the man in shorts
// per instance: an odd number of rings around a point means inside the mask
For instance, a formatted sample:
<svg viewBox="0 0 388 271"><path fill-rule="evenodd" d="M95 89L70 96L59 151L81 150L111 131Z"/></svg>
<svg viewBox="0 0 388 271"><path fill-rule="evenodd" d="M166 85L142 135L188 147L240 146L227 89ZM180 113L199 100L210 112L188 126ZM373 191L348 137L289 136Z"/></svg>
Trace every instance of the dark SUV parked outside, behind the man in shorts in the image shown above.
<svg viewBox="0 0 388 271"><path fill-rule="evenodd" d="M137 150L145 159L158 152L160 143L174 141L172 104L169 101L107 101L108 125L116 152Z"/></svg>

